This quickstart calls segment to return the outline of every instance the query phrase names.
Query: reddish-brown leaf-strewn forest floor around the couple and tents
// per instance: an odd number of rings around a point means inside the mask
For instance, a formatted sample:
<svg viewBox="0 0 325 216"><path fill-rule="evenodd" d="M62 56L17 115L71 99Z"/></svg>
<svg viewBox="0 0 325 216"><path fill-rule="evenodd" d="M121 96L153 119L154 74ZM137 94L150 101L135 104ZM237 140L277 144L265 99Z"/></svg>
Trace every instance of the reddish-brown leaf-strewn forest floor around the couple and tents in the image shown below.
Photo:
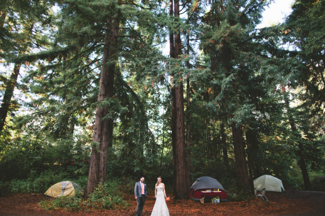
<svg viewBox="0 0 325 216"><path fill-rule="evenodd" d="M217 215L325 215L325 192L287 190L284 193L267 193L269 201L253 197L245 201L229 201L218 204L201 204L194 200L167 201L171 216L217 216ZM135 216L136 201L133 195L126 195L131 206L92 212L44 211L38 204L46 198L42 194L17 194L0 198L0 216ZM155 199L148 196L143 216L150 216Z"/></svg>

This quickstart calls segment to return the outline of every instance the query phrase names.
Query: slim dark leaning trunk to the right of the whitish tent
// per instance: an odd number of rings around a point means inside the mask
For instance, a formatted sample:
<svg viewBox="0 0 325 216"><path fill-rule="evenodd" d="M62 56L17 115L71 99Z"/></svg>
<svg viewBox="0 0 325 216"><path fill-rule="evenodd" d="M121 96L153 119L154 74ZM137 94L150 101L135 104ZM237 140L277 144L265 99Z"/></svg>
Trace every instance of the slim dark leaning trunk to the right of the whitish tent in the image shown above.
<svg viewBox="0 0 325 216"><path fill-rule="evenodd" d="M288 100L288 96L287 96L287 92L284 92L284 96L285 96L285 103L286 103L286 107L289 113L290 110L290 104L289 104L289 100ZM303 180L304 180L304 186L306 190L310 190L311 189L311 183L309 180L309 176L308 176L308 171L307 171L307 167L306 167L306 162L305 162L305 158L304 158L304 146L301 143L301 137L297 135L297 127L294 123L293 117L291 115L291 113L289 113L289 123L290 123L290 127L291 130L293 132L293 134L295 136L297 136L298 138L298 149L295 151L296 155L298 156L298 165L301 169L301 174L303 175Z"/></svg>

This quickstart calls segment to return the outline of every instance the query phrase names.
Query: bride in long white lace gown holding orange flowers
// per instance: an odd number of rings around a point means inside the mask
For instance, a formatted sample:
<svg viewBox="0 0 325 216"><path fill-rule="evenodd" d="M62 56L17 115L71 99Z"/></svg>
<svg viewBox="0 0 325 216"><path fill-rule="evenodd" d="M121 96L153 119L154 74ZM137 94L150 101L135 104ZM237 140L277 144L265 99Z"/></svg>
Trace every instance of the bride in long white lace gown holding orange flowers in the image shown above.
<svg viewBox="0 0 325 216"><path fill-rule="evenodd" d="M169 216L168 207L166 204L166 191L165 184L161 182L161 177L158 177L157 183L154 187L154 198L156 198L156 202L153 206L153 211L151 216Z"/></svg>

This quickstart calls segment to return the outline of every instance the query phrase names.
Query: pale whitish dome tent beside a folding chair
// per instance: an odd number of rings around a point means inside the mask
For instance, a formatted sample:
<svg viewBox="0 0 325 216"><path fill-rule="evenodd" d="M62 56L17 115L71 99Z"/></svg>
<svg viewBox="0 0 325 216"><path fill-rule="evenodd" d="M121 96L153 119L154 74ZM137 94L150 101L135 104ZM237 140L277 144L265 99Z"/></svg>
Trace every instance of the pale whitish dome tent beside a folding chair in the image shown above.
<svg viewBox="0 0 325 216"><path fill-rule="evenodd" d="M281 192L281 189L285 190L282 180L270 175L263 175L255 179L254 187L258 191L262 191L263 187L265 187L266 191Z"/></svg>

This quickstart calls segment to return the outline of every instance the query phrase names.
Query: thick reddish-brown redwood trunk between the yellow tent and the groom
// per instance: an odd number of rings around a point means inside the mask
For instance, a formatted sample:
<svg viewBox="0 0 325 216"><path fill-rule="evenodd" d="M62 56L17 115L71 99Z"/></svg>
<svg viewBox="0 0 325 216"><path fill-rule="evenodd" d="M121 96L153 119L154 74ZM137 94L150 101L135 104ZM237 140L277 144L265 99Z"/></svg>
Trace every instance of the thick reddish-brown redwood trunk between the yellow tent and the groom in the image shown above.
<svg viewBox="0 0 325 216"><path fill-rule="evenodd" d="M100 73L99 92L97 101L100 103L113 96L114 94L114 75L115 63L112 62L112 56L115 55L113 46L118 38L119 21L114 19L108 21L105 33L103 62ZM94 144L90 160L87 195L91 194L99 181L105 181L107 150L111 145L113 121L104 118L108 113L107 107L96 108L96 118L94 126Z"/></svg>

